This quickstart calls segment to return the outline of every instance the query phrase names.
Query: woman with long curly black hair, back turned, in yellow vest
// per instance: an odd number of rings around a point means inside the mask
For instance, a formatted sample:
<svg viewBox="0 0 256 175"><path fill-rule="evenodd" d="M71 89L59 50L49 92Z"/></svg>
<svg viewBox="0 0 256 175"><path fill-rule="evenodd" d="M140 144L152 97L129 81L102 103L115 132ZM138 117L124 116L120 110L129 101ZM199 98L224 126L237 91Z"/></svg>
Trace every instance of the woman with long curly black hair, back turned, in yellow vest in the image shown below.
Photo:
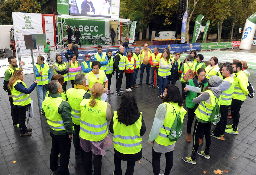
<svg viewBox="0 0 256 175"><path fill-rule="evenodd" d="M142 157L141 141L146 126L139 112L135 96L131 92L124 92L117 111L114 111L109 125L114 140L113 174L121 175L121 160L127 161L126 175L133 175L135 162ZM133 146L131 146L133 145Z"/></svg>

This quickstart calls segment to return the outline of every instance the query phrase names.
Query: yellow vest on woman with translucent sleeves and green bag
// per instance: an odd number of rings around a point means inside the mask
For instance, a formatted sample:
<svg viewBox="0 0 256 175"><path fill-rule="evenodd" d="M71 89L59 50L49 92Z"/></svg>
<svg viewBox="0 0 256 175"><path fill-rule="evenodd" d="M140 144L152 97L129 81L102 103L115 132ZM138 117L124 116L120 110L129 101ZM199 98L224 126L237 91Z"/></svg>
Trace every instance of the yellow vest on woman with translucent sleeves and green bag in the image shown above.
<svg viewBox="0 0 256 175"><path fill-rule="evenodd" d="M172 125L175 121L176 113L180 116L181 123L183 123L184 116L187 113L187 111L183 107L180 107L178 103L171 103L172 105L170 103L164 102L164 104L166 104L166 117L164 119L163 125L160 128L159 135L155 139L156 143L164 146L172 145L175 143L175 141L171 142L169 140L168 135L170 134ZM168 135L166 135L166 133Z"/></svg>

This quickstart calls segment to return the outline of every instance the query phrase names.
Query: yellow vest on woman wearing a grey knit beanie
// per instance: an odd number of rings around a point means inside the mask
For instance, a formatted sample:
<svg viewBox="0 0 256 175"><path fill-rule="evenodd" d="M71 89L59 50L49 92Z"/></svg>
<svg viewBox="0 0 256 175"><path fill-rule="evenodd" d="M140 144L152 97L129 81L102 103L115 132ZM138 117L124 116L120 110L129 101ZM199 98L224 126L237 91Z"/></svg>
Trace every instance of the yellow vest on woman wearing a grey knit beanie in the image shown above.
<svg viewBox="0 0 256 175"><path fill-rule="evenodd" d="M216 102L218 102L218 105L220 106L220 100L218 100L211 90L206 90L203 93L208 93L210 95L210 103L207 102L208 100L199 102L195 114L197 115L197 118L208 122Z"/></svg>

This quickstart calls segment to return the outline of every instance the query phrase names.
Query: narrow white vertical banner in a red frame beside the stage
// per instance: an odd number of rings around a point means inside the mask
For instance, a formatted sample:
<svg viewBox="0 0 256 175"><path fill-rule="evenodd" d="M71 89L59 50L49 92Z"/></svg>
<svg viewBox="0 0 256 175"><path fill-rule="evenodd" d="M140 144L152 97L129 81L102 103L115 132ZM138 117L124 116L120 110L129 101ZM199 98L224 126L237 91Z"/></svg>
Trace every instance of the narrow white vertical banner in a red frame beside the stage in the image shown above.
<svg viewBox="0 0 256 175"><path fill-rule="evenodd" d="M44 25L45 25L45 37L46 42L50 42L50 46L55 46L54 42L54 29L55 26L53 25L53 18L54 16L44 16Z"/></svg>

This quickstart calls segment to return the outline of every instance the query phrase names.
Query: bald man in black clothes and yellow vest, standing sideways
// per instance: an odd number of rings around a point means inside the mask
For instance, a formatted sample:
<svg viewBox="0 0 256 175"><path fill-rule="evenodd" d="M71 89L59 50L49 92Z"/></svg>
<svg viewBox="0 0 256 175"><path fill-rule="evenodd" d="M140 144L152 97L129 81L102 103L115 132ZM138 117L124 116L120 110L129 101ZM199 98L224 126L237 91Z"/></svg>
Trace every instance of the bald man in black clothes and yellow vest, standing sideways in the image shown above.
<svg viewBox="0 0 256 175"><path fill-rule="evenodd" d="M123 55L124 51L124 47L120 46L119 50L116 52L114 63L114 68L116 72L116 94L119 96L121 95L121 92L123 92L123 90L121 89L121 85L123 80L123 72L125 69L125 58Z"/></svg>

